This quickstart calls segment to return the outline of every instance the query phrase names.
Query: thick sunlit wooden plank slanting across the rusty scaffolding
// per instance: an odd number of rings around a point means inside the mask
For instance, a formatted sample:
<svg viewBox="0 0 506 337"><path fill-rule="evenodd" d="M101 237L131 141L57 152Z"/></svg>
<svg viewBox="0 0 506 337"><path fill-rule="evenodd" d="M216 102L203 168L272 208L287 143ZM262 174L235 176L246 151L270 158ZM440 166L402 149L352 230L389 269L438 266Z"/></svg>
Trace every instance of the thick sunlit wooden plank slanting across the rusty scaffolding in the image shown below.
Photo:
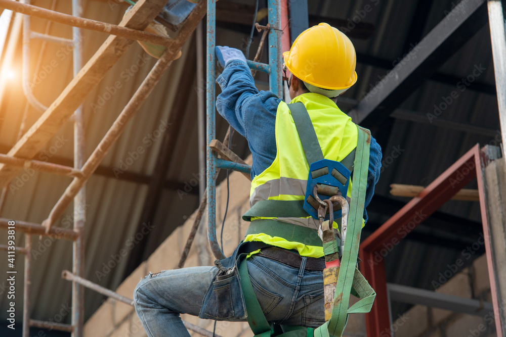
<svg viewBox="0 0 506 337"><path fill-rule="evenodd" d="M143 30L165 4L166 0L139 0L136 6L125 14L119 26ZM109 36L97 53L70 81L60 96L23 135L8 155L25 159L33 158L133 42L133 40L124 37ZM0 188L7 186L20 170L19 167L0 164Z"/></svg>

